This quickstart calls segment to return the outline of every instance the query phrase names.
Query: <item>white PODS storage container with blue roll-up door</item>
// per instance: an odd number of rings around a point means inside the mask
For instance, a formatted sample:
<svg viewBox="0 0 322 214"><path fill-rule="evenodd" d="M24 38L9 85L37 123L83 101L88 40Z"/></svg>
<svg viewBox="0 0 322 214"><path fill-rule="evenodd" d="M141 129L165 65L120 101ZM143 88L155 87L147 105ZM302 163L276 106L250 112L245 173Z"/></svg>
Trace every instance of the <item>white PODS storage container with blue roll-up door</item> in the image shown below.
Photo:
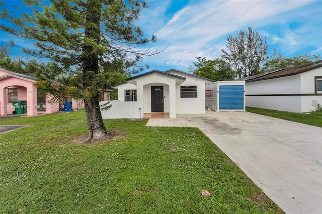
<svg viewBox="0 0 322 214"><path fill-rule="evenodd" d="M245 80L217 81L206 85L206 108L245 111Z"/></svg>

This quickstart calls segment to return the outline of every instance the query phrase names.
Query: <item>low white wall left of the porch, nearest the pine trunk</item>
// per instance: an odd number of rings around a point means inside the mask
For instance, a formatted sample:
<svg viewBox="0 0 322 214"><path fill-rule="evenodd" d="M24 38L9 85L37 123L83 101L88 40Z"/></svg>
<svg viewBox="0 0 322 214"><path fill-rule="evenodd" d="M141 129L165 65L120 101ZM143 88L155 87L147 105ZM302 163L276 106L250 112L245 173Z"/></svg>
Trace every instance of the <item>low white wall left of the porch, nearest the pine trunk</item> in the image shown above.
<svg viewBox="0 0 322 214"><path fill-rule="evenodd" d="M101 101L100 105L108 101ZM124 102L120 100L111 100L111 109L101 111L103 119L123 119L123 118L143 118L143 110L139 112L139 104L137 102ZM142 107L141 107L142 108Z"/></svg>

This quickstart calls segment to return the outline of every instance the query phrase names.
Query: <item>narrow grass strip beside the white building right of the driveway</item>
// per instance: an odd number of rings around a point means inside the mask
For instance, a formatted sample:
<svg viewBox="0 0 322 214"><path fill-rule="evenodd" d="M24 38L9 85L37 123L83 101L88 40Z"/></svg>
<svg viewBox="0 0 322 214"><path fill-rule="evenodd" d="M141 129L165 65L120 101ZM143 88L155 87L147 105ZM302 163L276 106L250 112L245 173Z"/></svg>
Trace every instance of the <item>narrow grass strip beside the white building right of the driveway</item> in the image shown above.
<svg viewBox="0 0 322 214"><path fill-rule="evenodd" d="M307 124L311 126L322 127L322 112L291 113L269 109L259 109L253 107L246 107L246 111L274 118L280 118L288 121L294 121L297 123Z"/></svg>

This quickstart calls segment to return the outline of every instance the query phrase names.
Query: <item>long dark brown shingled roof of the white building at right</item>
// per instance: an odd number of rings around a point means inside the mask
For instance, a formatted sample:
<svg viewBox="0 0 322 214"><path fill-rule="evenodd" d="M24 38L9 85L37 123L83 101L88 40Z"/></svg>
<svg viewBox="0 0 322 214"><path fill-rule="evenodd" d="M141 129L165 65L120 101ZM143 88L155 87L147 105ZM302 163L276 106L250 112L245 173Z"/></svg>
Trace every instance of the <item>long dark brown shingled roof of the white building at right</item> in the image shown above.
<svg viewBox="0 0 322 214"><path fill-rule="evenodd" d="M249 76L246 78L243 78L243 80L246 80L246 82L255 82L265 79L274 79L278 77L284 77L284 76L293 76L299 73L303 73L309 70L313 70L315 68L322 67L322 60L318 60L316 62L310 62L303 65L298 65L294 67L284 68L276 71L271 72L265 72L262 74Z"/></svg>

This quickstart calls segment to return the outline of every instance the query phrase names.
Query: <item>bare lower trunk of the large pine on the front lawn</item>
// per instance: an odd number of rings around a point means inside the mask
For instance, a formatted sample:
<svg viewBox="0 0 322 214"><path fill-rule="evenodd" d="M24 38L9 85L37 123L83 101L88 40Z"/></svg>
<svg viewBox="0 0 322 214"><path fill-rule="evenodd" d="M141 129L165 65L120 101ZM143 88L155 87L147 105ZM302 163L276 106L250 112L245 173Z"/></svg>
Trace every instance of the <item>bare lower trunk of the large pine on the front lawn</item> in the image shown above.
<svg viewBox="0 0 322 214"><path fill-rule="evenodd" d="M90 131L85 143L104 140L107 137L107 132L103 123L99 102L92 102L91 105L85 102L85 113Z"/></svg>

